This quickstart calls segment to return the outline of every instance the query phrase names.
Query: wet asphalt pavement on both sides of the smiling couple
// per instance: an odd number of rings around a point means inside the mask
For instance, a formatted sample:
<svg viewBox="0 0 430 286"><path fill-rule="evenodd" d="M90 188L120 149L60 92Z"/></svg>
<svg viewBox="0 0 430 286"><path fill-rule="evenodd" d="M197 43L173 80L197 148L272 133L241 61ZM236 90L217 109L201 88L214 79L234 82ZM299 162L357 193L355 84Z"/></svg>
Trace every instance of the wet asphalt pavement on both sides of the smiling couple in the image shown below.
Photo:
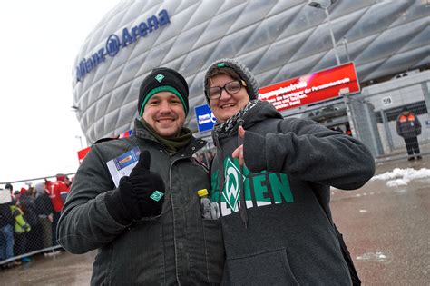
<svg viewBox="0 0 430 286"><path fill-rule="evenodd" d="M377 164L376 174L407 167L430 169L430 155ZM363 285L430 285L430 178L333 190L331 208ZM36 255L30 263L0 270L0 285L89 285L94 255Z"/></svg>

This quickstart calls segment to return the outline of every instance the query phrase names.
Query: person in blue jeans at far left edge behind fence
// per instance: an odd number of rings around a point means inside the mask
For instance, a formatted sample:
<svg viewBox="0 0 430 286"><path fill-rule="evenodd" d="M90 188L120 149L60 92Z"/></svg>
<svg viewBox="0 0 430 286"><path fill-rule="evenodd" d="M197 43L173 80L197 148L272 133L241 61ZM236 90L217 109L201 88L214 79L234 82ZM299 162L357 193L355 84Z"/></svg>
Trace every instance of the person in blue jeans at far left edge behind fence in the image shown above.
<svg viewBox="0 0 430 286"><path fill-rule="evenodd" d="M0 262L14 257L14 226L15 219L11 212L12 185L7 184L0 189ZM9 261L1 264L2 268L20 265L18 261Z"/></svg>

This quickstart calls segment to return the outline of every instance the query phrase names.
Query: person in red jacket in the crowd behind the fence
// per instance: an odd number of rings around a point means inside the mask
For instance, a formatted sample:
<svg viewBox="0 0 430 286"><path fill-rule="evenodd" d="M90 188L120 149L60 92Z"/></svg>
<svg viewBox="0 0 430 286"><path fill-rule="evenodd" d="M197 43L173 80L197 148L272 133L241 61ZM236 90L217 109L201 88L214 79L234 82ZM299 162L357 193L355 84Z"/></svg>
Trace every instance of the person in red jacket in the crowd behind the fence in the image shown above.
<svg viewBox="0 0 430 286"><path fill-rule="evenodd" d="M57 224L60 220L61 210L63 209L67 193L69 192L69 178L64 173L58 173L56 175L56 181L46 181L45 189L51 198L51 202L54 207L53 222L52 222L52 238L53 246L57 245Z"/></svg>

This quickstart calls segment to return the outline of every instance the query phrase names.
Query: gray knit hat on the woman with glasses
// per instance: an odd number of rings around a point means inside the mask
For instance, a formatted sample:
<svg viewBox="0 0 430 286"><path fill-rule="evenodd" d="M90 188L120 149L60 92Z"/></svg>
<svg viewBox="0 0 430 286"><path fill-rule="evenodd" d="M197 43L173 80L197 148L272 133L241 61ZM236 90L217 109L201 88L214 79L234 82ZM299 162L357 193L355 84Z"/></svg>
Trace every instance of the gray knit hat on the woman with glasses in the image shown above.
<svg viewBox="0 0 430 286"><path fill-rule="evenodd" d="M241 64L239 61L236 61L233 59L220 59L210 64L208 70L206 71L206 74L204 75L203 89L204 89L204 94L208 104L209 104L208 75L211 74L215 69L222 69L224 67L230 67L230 69L235 71L236 74L239 74L239 77L243 81L245 81L245 83L247 84L246 88L247 88L247 92L250 100L259 98L259 83L255 79L254 75L249 71L248 67L246 67L244 64Z"/></svg>

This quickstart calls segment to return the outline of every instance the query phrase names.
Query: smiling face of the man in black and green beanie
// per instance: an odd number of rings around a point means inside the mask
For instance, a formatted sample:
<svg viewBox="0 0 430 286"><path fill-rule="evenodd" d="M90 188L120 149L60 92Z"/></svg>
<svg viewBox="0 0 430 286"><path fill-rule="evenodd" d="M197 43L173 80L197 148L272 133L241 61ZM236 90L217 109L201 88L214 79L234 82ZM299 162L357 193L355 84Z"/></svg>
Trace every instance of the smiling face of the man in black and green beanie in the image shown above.
<svg viewBox="0 0 430 286"><path fill-rule="evenodd" d="M178 96L161 92L148 100L143 109L143 119L162 137L173 137L180 133L185 111Z"/></svg>

